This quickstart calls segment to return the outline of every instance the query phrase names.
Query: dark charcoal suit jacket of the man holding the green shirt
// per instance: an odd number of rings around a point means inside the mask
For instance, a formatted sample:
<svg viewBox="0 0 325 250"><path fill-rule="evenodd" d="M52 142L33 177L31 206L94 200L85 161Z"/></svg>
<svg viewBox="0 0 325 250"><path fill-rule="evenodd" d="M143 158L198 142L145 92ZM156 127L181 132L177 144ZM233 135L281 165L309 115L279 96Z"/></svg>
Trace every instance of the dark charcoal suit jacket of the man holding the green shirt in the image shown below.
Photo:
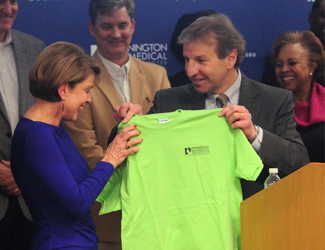
<svg viewBox="0 0 325 250"><path fill-rule="evenodd" d="M153 103L148 114L205 109L205 94L198 94L188 84L157 91ZM245 106L252 114L253 123L263 129L259 156L264 168L256 181L242 180L245 199L264 188L269 168L278 168L279 176L284 177L309 163L309 157L295 129L291 91L261 84L242 73L239 105Z"/></svg>

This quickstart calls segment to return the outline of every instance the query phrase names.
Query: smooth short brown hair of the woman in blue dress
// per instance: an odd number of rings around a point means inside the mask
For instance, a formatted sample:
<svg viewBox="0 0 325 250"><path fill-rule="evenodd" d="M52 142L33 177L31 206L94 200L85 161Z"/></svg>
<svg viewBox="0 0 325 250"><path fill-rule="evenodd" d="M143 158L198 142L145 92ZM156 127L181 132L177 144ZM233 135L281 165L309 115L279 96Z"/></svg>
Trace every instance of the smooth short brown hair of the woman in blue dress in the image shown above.
<svg viewBox="0 0 325 250"><path fill-rule="evenodd" d="M34 62L30 73L30 91L36 98L48 102L61 101L58 88L69 84L70 88L95 75L94 85L99 82L100 70L95 61L81 47L57 42L46 47Z"/></svg>

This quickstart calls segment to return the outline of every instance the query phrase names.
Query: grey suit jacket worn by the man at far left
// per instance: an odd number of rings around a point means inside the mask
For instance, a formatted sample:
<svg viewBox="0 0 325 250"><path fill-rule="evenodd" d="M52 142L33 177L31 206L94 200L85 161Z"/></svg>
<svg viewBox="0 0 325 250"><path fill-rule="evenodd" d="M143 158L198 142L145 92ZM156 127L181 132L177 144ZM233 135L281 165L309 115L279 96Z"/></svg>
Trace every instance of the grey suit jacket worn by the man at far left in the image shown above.
<svg viewBox="0 0 325 250"><path fill-rule="evenodd" d="M18 88L19 88L19 117L22 116L33 103L34 98L29 91L29 70L37 56L41 53L45 44L28 34L11 29L12 44L16 60ZM0 159L10 160L12 132L9 124L6 108L0 95ZM25 217L32 220L27 206L21 195L18 202ZM4 216L8 206L8 197L0 192L0 220Z"/></svg>

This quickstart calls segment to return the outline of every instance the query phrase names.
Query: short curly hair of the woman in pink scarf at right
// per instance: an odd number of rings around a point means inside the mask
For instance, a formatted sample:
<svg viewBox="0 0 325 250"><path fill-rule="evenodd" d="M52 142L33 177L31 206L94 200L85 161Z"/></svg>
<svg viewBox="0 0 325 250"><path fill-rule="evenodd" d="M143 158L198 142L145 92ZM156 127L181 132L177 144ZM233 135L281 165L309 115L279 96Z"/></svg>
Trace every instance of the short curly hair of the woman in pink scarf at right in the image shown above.
<svg viewBox="0 0 325 250"><path fill-rule="evenodd" d="M317 68L313 74L313 80L324 74L324 46L311 31L287 31L277 36L272 45L272 62L276 64L277 56L281 48L287 44L300 44L309 52L309 62L317 62Z"/></svg>

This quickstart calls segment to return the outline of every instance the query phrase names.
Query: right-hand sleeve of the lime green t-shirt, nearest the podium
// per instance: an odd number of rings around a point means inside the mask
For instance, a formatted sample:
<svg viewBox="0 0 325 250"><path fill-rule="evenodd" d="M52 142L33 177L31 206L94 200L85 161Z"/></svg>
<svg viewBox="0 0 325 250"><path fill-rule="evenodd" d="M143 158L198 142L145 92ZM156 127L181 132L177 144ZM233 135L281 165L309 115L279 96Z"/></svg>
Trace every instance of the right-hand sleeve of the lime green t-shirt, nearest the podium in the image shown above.
<svg viewBox="0 0 325 250"><path fill-rule="evenodd" d="M234 130L236 176L246 180L256 180L263 169L263 163L248 142L241 129Z"/></svg>

